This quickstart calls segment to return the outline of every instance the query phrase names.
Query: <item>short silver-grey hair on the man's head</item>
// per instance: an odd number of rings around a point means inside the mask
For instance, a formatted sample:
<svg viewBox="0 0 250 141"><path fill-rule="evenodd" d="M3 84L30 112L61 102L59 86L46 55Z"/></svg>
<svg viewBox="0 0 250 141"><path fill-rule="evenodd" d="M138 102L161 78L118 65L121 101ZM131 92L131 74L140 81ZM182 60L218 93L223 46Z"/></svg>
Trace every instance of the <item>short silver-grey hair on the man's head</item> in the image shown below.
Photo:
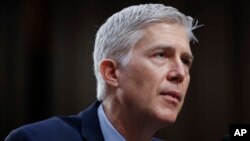
<svg viewBox="0 0 250 141"><path fill-rule="evenodd" d="M163 4L141 4L127 7L115 13L99 28L96 33L93 52L94 72L97 79L97 100L106 96L106 83L99 65L105 59L113 59L125 67L135 43L144 35L143 28L155 23L177 23L183 25L190 41L197 42L193 30L198 21L186 16L176 8Z"/></svg>

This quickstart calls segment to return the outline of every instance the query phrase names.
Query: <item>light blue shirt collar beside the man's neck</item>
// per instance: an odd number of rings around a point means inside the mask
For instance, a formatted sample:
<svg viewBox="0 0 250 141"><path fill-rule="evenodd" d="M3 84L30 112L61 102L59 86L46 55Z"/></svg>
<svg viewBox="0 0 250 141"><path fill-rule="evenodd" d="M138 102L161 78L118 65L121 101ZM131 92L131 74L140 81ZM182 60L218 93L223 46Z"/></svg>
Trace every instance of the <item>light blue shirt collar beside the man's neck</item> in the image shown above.
<svg viewBox="0 0 250 141"><path fill-rule="evenodd" d="M102 104L100 104L98 107L97 114L105 141L126 141L124 137L109 122L103 110Z"/></svg>

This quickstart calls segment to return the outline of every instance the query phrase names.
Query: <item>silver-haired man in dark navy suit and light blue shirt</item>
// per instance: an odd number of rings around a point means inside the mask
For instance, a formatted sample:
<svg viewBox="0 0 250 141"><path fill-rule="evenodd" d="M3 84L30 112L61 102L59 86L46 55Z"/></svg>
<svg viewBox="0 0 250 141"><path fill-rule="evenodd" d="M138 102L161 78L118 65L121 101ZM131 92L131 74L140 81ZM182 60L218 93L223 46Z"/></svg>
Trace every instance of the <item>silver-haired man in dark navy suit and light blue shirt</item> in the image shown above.
<svg viewBox="0 0 250 141"><path fill-rule="evenodd" d="M53 117L11 132L6 141L157 141L175 122L188 89L197 22L161 4L131 6L98 30L97 99L78 115Z"/></svg>

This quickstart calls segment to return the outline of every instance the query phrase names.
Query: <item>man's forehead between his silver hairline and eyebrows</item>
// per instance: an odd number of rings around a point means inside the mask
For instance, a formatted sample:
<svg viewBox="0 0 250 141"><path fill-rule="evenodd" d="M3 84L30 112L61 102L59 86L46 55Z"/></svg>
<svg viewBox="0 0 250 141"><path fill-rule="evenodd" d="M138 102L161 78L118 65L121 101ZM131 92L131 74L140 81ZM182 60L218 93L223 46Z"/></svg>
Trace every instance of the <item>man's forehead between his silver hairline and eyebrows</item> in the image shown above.
<svg viewBox="0 0 250 141"><path fill-rule="evenodd" d="M191 54L186 28L179 24L156 23L143 30L144 35L135 44L135 49L173 47Z"/></svg>

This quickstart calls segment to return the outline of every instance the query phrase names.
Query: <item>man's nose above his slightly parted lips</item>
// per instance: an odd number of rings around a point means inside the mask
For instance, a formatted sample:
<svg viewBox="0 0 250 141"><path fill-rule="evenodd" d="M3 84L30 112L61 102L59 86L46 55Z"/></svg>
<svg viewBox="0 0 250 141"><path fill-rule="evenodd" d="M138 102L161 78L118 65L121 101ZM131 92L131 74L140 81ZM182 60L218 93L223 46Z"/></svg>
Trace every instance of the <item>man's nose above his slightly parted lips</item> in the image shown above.
<svg viewBox="0 0 250 141"><path fill-rule="evenodd" d="M181 83L183 82L186 75L185 66L182 62L176 61L171 64L170 69L167 74L168 81L172 83Z"/></svg>

